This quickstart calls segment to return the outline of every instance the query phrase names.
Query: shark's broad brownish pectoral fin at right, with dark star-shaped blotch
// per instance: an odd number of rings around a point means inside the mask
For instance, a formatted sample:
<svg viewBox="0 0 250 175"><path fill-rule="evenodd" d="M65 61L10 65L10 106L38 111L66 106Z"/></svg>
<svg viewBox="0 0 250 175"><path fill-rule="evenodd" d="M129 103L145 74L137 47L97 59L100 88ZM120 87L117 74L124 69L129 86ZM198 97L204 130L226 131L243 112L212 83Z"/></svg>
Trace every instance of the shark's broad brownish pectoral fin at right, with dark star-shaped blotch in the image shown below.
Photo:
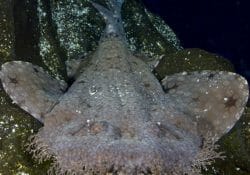
<svg viewBox="0 0 250 175"><path fill-rule="evenodd" d="M247 81L222 71L178 73L162 80L163 89L177 107L197 123L201 135L219 138L243 113L248 100Z"/></svg>

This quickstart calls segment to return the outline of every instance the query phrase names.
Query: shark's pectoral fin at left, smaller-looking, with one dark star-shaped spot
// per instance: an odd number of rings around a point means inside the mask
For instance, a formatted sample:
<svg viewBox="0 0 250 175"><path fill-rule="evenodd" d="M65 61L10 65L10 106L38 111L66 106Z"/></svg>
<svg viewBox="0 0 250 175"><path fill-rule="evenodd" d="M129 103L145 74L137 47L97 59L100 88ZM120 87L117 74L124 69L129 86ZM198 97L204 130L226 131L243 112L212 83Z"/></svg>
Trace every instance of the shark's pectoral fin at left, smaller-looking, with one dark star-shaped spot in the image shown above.
<svg viewBox="0 0 250 175"><path fill-rule="evenodd" d="M65 82L50 77L42 68L22 61L3 64L0 78L13 103L40 122L67 88Z"/></svg>

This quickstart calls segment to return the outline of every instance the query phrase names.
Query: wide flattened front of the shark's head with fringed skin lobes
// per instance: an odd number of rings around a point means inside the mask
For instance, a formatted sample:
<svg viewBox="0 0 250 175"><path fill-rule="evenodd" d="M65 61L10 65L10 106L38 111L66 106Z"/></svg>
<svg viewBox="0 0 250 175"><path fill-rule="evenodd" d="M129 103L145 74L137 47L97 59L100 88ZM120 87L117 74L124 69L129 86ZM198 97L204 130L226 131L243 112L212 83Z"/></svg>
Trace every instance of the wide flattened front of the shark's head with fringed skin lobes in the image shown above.
<svg viewBox="0 0 250 175"><path fill-rule="evenodd" d="M33 143L43 145L43 157L54 155L55 169L61 174L164 174L191 168L199 150L194 138L178 132L171 135L173 128L164 124L138 128L125 130L108 121L71 121L58 128L45 125Z"/></svg>

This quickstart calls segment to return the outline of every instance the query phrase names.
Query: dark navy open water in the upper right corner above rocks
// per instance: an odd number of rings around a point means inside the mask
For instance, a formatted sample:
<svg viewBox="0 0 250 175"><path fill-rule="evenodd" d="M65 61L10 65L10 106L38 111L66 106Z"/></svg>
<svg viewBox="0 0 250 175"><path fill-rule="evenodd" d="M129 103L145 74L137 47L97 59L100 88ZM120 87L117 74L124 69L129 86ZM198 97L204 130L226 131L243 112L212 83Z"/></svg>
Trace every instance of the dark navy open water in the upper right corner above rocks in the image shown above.
<svg viewBox="0 0 250 175"><path fill-rule="evenodd" d="M184 48L224 56L250 82L250 0L143 0Z"/></svg>

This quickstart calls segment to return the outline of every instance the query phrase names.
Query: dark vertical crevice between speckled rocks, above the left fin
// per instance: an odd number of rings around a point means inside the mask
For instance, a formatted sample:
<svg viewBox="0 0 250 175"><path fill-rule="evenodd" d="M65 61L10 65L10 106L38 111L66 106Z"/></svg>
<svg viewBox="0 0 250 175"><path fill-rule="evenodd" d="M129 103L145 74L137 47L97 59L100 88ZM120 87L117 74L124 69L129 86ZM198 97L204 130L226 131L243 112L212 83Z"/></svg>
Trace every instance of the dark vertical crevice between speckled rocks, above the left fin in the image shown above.
<svg viewBox="0 0 250 175"><path fill-rule="evenodd" d="M13 1L13 18L14 18L14 51L15 60L36 62L42 66L39 57L39 40L38 17L34 9L36 3L30 1Z"/></svg>

